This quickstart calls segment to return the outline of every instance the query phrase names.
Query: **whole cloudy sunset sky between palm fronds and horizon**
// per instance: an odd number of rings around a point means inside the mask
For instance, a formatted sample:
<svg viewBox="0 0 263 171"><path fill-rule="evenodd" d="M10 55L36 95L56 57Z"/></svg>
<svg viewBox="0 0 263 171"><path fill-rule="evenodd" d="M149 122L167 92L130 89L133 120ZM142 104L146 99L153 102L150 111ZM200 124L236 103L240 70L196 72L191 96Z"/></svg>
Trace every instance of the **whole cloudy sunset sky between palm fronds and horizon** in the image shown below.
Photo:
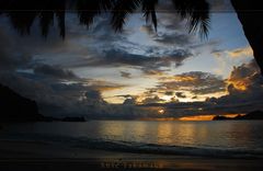
<svg viewBox="0 0 263 171"><path fill-rule="evenodd" d="M0 82L55 116L178 117L262 107L263 79L236 13L215 10L207 39L188 34L169 11L158 13L157 32L141 13L122 33L108 19L102 14L87 30L68 13L62 41L56 22L45 39L37 21L30 36L20 36L1 16Z"/></svg>

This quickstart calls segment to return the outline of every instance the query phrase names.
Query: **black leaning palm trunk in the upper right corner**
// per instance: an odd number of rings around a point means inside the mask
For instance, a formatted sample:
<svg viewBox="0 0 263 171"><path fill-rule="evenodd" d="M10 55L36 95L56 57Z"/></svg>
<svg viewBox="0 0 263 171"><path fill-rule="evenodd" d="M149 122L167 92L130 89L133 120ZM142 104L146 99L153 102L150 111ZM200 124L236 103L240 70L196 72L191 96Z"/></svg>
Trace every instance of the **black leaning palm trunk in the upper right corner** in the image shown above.
<svg viewBox="0 0 263 171"><path fill-rule="evenodd" d="M263 76L263 11L259 0L231 0Z"/></svg>

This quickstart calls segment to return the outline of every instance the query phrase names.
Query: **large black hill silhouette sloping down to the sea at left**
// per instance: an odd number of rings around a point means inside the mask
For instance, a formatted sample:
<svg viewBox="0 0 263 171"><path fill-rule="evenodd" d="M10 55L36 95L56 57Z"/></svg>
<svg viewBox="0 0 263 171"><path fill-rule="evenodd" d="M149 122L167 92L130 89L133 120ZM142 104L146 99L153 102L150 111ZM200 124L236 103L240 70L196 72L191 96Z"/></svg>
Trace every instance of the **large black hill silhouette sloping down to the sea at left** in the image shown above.
<svg viewBox="0 0 263 171"><path fill-rule="evenodd" d="M0 84L0 122L43 121L35 101L23 98Z"/></svg>

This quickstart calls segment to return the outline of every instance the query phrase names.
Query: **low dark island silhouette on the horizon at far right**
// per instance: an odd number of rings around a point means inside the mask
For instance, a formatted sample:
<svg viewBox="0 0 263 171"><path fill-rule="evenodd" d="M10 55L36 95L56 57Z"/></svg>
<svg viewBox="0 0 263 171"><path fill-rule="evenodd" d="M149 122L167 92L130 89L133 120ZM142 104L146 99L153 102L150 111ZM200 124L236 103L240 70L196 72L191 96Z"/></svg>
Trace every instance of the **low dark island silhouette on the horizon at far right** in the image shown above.
<svg viewBox="0 0 263 171"><path fill-rule="evenodd" d="M225 119L232 119L232 121L240 121L240 119L263 119L263 112L262 111L253 111L245 115L238 115L236 117L227 117L224 115L217 115L213 118L213 121L225 121Z"/></svg>

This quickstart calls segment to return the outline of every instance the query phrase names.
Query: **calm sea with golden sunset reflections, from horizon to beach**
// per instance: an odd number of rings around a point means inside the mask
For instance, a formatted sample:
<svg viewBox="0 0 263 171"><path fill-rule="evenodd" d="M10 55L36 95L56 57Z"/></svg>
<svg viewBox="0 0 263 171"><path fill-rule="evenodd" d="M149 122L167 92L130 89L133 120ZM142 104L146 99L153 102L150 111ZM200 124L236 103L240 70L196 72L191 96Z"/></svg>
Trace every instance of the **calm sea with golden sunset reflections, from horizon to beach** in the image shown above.
<svg viewBox="0 0 263 171"><path fill-rule="evenodd" d="M164 152L175 153L202 149L203 152L230 150L263 155L262 121L90 121L5 124L0 129L0 138L71 142L85 145L88 148L94 146L104 149L136 150L138 148L148 151L163 149Z"/></svg>

